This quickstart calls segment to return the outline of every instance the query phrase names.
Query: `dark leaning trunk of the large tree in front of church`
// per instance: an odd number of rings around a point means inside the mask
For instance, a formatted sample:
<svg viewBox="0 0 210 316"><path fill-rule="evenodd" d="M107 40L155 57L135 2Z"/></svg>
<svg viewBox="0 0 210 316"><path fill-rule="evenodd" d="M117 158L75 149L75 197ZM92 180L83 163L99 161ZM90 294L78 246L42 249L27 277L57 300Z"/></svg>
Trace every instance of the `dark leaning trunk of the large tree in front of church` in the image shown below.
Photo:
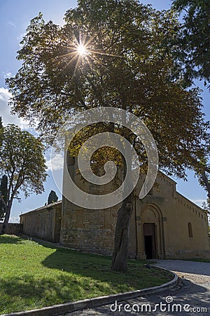
<svg viewBox="0 0 210 316"><path fill-rule="evenodd" d="M111 269L115 271L127 270L128 241L130 231L130 219L132 216L132 193L123 201L118 211L116 234Z"/></svg>

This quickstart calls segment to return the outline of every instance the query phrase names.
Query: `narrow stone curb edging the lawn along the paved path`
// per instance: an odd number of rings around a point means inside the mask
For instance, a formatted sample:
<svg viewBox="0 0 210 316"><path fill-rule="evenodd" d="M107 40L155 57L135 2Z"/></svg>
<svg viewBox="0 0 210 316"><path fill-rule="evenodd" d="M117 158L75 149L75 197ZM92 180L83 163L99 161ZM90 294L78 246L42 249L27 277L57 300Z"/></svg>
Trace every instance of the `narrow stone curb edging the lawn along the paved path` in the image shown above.
<svg viewBox="0 0 210 316"><path fill-rule="evenodd" d="M160 267L157 267L157 268L160 268ZM160 268L160 269L166 270L164 268ZM124 301L130 298L137 298L138 296L155 294L161 291L165 291L166 289L172 289L173 287L176 287L179 277L178 275L176 275L176 273L174 272L172 273L174 275L174 279L158 287L150 287L148 289L141 289L137 291L130 291L130 292L125 292L125 293L120 293L120 294L113 294L109 296L100 296L97 298L88 298L83 301L52 305L45 308L38 308L36 310L26 310L25 312L12 312L10 314L3 314L0 316L56 316L56 315L62 315L68 312L75 312L76 310L85 310L87 308L95 308L102 305L113 304L115 303L115 301Z"/></svg>

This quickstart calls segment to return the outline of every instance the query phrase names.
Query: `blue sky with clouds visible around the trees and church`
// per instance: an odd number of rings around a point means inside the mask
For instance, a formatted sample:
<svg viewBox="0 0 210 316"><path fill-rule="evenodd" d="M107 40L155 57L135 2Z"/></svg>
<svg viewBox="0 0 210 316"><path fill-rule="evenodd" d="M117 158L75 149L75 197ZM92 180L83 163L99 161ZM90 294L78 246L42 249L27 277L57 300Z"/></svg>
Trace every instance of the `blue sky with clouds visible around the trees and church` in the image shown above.
<svg viewBox="0 0 210 316"><path fill-rule="evenodd" d="M141 2L144 4L150 3L158 10L168 9L170 6L170 1L168 0L142 0ZM29 21L38 15L39 12L42 12L45 20L52 20L56 24L61 25L66 10L75 6L76 1L74 0L0 0L0 115L3 117L3 124L14 123L23 129L28 129L27 122L10 115L10 109L8 107L10 95L6 89L5 79L6 77L13 76L21 66L21 62L16 60L15 57L17 55L16 52L20 48L19 43L22 39L22 35L26 31ZM202 84L200 84L200 87L204 88ZM209 92L206 88L204 88L202 97L204 112L207 115L207 119L210 119ZM50 152L47 152L45 156L48 165L50 165ZM55 157L53 162L55 168L57 163L59 164L59 157ZM61 194L53 181L51 172L48 171L48 173L49 177L45 183L45 192L43 195L31 195L27 199L21 195L22 202L14 202L10 218L11 222L17 222L20 213L25 213L30 209L43 206L48 199L50 190L55 190L59 199L61 198ZM55 171L55 175L61 178L62 173L60 169ZM177 182L177 190L196 204L201 205L202 202L207 199L206 192L198 184L193 172L188 172L188 182L176 178L174 178L174 180Z"/></svg>

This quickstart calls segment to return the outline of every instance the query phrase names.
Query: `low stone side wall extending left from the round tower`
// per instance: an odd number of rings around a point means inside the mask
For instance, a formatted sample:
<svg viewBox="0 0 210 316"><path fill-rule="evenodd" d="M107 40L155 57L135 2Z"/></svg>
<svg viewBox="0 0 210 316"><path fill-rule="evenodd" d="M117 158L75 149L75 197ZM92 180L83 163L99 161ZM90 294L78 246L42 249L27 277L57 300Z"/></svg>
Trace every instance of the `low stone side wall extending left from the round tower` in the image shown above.
<svg viewBox="0 0 210 316"><path fill-rule="evenodd" d="M32 237L59 242L62 201L20 215L22 233Z"/></svg>

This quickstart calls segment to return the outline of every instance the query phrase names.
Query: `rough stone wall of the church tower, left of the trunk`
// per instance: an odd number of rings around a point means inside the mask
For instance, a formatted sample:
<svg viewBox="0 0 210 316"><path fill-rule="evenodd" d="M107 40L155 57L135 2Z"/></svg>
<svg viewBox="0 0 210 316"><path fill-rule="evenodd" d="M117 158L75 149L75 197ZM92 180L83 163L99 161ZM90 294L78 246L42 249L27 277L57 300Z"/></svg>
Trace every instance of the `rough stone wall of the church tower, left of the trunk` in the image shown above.
<svg viewBox="0 0 210 316"><path fill-rule="evenodd" d="M120 176L118 176L118 181L112 185L92 185L92 183L87 183L78 172L77 159L70 157L67 164L73 182L84 192L94 195L99 195L101 192L108 194L118 187L118 182L120 182ZM64 173L64 196L68 194L68 190L71 190L66 181ZM103 209L102 205L102 209L85 209L63 197L60 243L80 251L112 254L119 207L120 205L116 205Z"/></svg>

